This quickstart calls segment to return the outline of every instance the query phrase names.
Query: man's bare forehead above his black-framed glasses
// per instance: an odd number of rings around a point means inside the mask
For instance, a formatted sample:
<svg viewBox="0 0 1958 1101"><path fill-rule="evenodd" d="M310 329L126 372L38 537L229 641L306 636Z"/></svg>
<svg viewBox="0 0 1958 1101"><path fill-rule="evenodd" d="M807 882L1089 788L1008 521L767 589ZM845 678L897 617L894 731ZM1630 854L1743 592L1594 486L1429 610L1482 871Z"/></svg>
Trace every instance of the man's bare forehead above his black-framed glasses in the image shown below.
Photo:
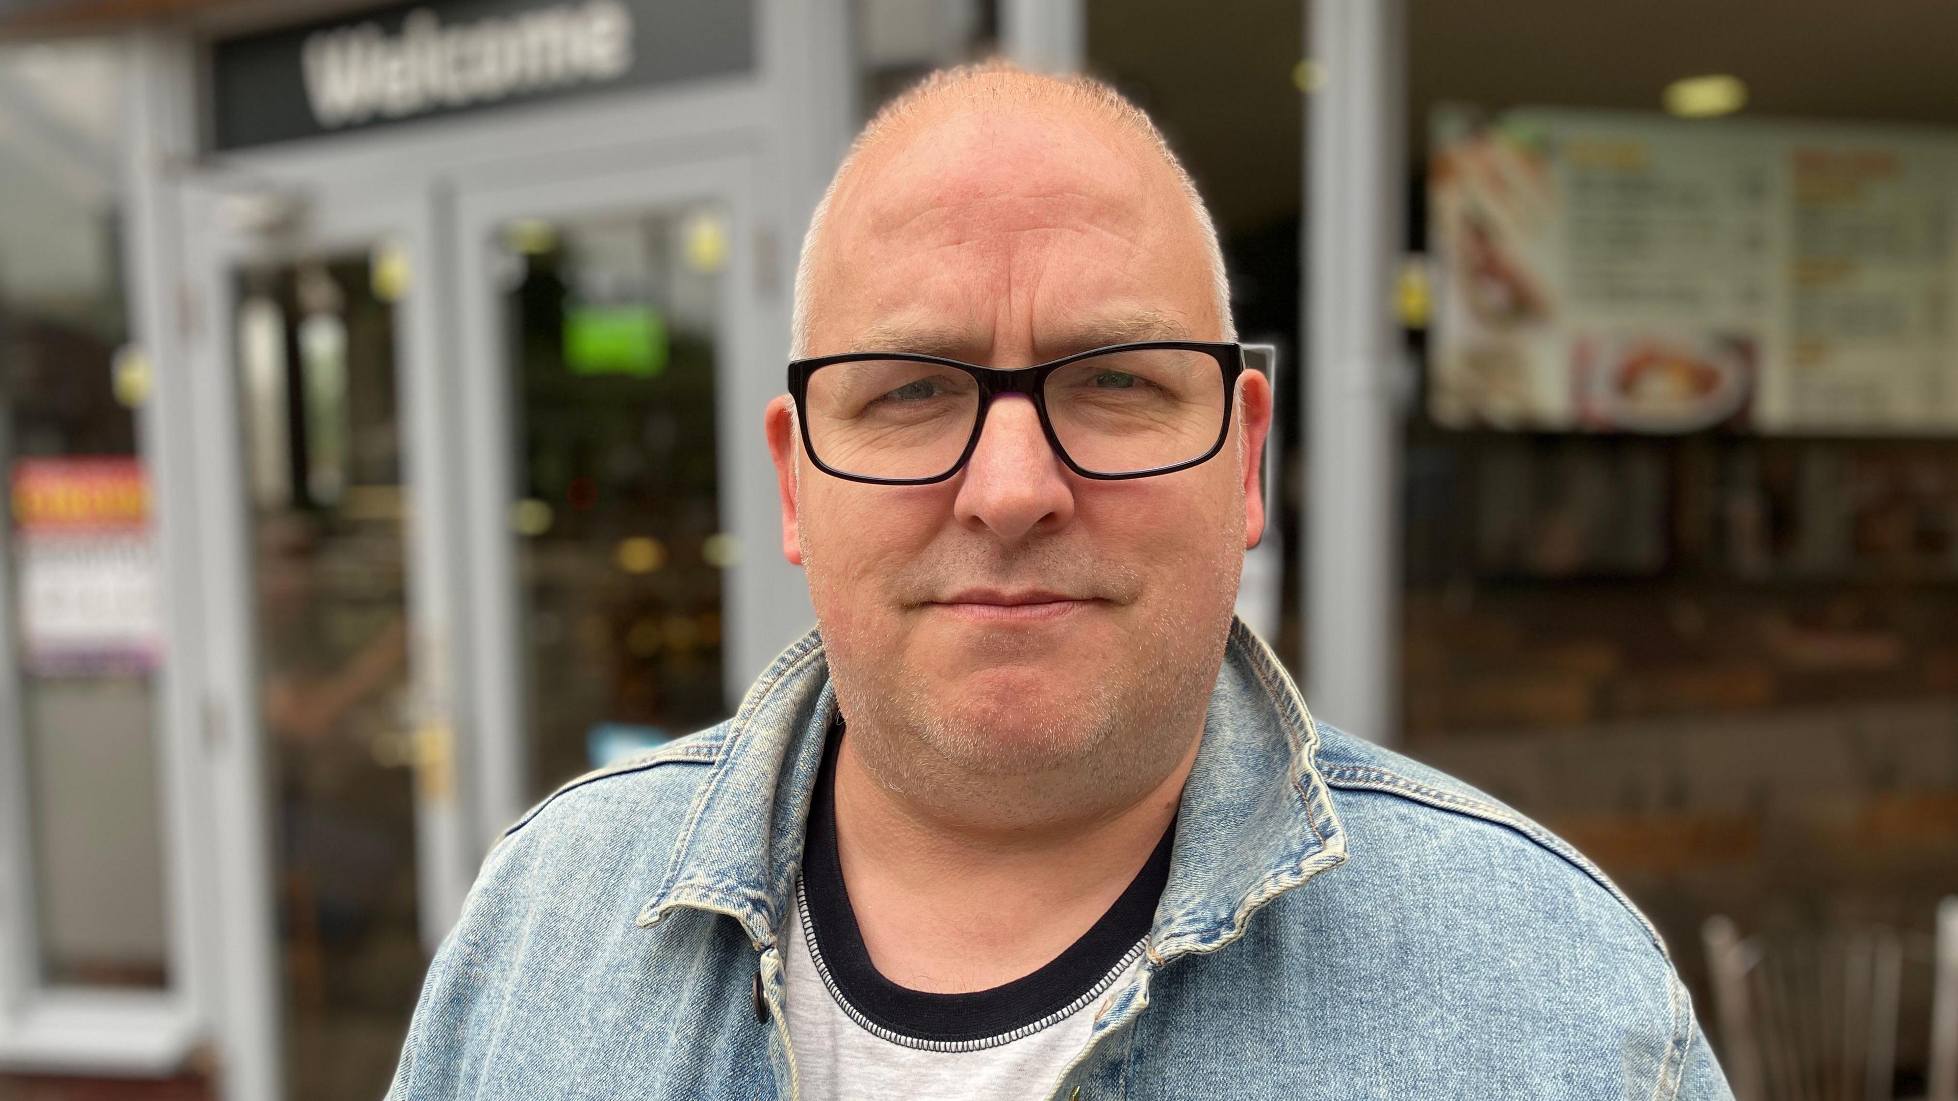
<svg viewBox="0 0 1958 1101"><path fill-rule="evenodd" d="M1183 315L1208 302L1181 302L1208 288L1181 278L1208 270L1202 227L1175 168L1118 121L934 110L848 172L807 288L824 351L983 360L1004 321L1057 357L1208 327Z"/></svg>

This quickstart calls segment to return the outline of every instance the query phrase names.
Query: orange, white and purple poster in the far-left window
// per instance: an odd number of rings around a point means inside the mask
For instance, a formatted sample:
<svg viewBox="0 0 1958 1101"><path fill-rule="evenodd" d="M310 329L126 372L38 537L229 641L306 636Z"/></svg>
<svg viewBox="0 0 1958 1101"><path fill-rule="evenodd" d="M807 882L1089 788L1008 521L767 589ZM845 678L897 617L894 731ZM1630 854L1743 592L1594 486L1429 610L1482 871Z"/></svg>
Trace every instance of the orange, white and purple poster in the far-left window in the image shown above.
<svg viewBox="0 0 1958 1101"><path fill-rule="evenodd" d="M135 458L14 462L20 637L37 676L125 676L161 648L149 482Z"/></svg>

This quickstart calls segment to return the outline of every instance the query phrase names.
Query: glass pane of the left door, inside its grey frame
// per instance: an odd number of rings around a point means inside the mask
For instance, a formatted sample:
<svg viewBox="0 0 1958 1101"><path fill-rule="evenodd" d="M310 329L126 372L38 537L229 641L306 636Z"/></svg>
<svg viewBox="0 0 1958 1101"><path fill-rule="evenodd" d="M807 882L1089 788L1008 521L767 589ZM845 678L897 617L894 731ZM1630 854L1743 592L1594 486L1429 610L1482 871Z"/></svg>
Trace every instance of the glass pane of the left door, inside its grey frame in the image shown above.
<svg viewBox="0 0 1958 1101"><path fill-rule="evenodd" d="M388 264L327 253L233 276L286 1081L300 1099L386 1091L427 962Z"/></svg>

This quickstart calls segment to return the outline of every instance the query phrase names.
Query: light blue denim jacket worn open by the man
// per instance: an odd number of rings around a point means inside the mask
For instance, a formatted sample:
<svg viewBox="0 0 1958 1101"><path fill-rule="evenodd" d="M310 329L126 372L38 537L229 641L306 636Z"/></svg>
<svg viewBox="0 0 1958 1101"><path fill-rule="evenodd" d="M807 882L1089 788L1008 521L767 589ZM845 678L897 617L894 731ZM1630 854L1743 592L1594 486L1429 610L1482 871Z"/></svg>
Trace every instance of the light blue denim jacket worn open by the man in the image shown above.
<svg viewBox="0 0 1958 1101"><path fill-rule="evenodd" d="M779 936L832 699L811 633L730 721L517 823L429 970L390 1097L795 1097ZM1143 964L1049 1097L1731 1095L1664 944L1602 872L1314 725L1234 625Z"/></svg>

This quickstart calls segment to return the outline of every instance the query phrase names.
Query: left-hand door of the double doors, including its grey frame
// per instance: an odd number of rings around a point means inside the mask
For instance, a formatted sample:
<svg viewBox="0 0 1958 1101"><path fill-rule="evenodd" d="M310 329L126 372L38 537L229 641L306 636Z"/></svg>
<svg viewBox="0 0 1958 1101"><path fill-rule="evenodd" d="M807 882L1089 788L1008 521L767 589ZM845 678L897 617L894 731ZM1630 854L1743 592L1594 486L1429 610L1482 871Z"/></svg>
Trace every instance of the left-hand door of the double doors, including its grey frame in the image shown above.
<svg viewBox="0 0 1958 1101"><path fill-rule="evenodd" d="M482 856L458 825L441 317L415 278L433 233L429 208L376 196L243 202L200 208L227 445L200 474L229 505L213 666L249 758L219 835L256 838L258 868L225 964L276 1027L229 1044L264 1066L225 1072L262 1083L239 1095L378 1097Z"/></svg>

